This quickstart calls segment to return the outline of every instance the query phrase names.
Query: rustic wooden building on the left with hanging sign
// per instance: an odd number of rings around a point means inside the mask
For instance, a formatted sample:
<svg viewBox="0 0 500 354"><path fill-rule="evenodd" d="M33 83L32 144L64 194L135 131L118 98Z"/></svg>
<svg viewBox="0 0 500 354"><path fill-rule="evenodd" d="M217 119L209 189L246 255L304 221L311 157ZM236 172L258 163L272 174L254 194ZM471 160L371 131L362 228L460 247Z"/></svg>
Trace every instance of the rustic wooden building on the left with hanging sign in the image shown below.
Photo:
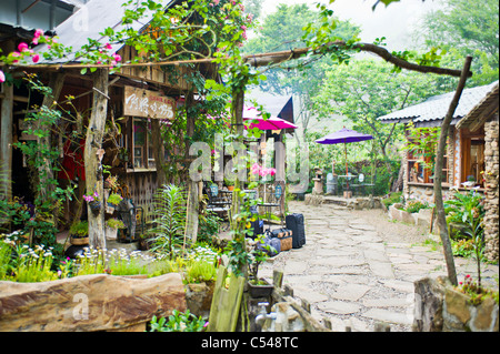
<svg viewBox="0 0 500 354"><path fill-rule="evenodd" d="M69 16L62 23L53 28L59 39L58 42L79 49L88 42L88 38L99 41L102 45L107 39L100 33L106 28L119 30L122 28L121 19L124 8L122 0L90 0L80 9ZM172 6L177 0L166 0L166 7ZM78 10L78 11L77 11ZM152 12L151 14L152 16ZM143 30L148 22L134 22L130 24L136 30ZM28 29L26 38L29 38L34 28ZM24 38L10 38L10 44L3 45L7 50L13 50ZM34 48L36 52L43 52L47 44ZM121 55L122 61L131 60L138 55L134 48L124 44L112 44L109 53ZM6 51L4 49L4 51ZM78 63L79 58L66 58L66 62ZM59 146L60 161L63 168L59 172L59 183L67 185L72 183L77 190L79 200L86 193L84 175L82 170L83 150L86 144L86 128L91 120L92 107L97 98L107 100L107 119L104 136L102 140L103 155L102 168L112 175L117 175L124 186L124 193L130 196L134 205L142 206L146 214L151 211L152 195L157 189L158 160L166 152L159 141L160 124L168 124L174 118L179 102L184 101L191 88L184 80L189 70L197 70L202 75L212 75L211 64L199 64L196 69L188 67L124 67L119 72L109 74L108 92L102 92L96 82L96 73L81 68L59 69L43 64L62 63L63 61L43 61L33 64L24 71L38 73L40 80L48 85L56 84L57 95L54 100L64 110L62 119L58 122L52 133L52 144ZM99 71L99 70L98 70ZM12 73L22 77L22 71L12 68ZM6 85L2 85L2 90ZM52 88L54 89L54 88ZM13 184L11 194L24 196L24 202L33 198L33 191L27 176L30 175L28 166L23 163L23 155L19 149L12 148L11 141L6 136L12 133L13 141L28 141L34 139L27 136L23 131L23 119L33 103L41 105L43 97L30 92L26 85L9 88L12 93L6 95L2 91L2 160L10 159L6 168L12 173ZM194 92L196 93L196 92ZM69 100L68 98L73 99ZM10 114L3 107L10 107ZM94 127L89 127L94 129ZM73 133L71 133L73 132ZM68 138L68 136L71 136ZM156 153L154 150L159 150ZM161 160L161 159L160 159ZM74 203L68 206L66 219L71 222L78 218Z"/></svg>

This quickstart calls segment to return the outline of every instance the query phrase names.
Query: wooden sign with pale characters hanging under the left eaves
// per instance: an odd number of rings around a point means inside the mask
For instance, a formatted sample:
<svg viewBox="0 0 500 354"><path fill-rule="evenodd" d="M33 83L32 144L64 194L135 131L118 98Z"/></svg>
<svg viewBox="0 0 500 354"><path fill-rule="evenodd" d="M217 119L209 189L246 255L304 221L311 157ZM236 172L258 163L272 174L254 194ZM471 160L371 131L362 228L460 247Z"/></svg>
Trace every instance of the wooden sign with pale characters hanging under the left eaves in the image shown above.
<svg viewBox="0 0 500 354"><path fill-rule="evenodd" d="M123 115L173 119L176 100L159 92L124 88Z"/></svg>

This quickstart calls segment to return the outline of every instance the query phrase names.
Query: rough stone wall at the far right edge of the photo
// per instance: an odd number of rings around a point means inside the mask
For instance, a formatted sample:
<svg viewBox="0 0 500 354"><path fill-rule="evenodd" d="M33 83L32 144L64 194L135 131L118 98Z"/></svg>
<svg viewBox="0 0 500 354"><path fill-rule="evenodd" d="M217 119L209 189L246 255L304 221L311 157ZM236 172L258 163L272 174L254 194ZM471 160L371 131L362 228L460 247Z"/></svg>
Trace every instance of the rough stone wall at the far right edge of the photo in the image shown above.
<svg viewBox="0 0 500 354"><path fill-rule="evenodd" d="M486 201L484 201L484 255L490 261L497 261L499 244L499 118L498 112L484 123L484 160L486 160Z"/></svg>

